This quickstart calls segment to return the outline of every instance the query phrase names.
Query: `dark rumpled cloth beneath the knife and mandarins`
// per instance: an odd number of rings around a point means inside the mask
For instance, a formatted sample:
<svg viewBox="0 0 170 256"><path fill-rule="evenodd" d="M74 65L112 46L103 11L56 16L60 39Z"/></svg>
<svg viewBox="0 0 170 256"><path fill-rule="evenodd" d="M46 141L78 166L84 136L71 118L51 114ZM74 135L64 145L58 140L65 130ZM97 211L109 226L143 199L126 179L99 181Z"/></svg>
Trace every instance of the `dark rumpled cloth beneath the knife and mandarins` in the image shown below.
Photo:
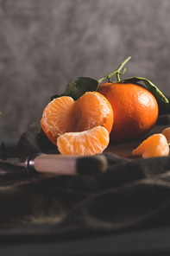
<svg viewBox="0 0 170 256"><path fill-rule="evenodd" d="M162 113L157 124L170 125ZM56 150L30 126L18 144L29 154ZM0 241L71 240L170 225L170 157L128 160L104 153L100 176L0 178Z"/></svg>

